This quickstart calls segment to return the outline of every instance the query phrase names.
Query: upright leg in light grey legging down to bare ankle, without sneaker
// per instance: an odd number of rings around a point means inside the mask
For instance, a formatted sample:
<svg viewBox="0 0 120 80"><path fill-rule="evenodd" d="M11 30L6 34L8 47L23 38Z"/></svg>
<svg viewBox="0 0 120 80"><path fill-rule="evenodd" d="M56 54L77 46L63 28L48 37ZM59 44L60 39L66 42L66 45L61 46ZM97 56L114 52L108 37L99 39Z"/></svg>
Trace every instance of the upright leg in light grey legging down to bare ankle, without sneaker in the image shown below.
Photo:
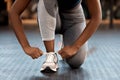
<svg viewBox="0 0 120 80"><path fill-rule="evenodd" d="M47 52L54 52L56 13L56 0L39 0L38 23Z"/></svg>

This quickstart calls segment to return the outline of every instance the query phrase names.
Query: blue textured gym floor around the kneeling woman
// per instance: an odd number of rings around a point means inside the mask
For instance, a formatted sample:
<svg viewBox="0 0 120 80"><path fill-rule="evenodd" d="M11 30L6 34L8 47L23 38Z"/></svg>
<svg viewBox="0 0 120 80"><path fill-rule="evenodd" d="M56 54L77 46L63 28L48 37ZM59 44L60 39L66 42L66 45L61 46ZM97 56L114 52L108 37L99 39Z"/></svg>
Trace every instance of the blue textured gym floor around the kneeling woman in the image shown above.
<svg viewBox="0 0 120 80"><path fill-rule="evenodd" d="M25 28L32 46L43 51L38 28ZM56 51L60 36L56 35ZM13 31L0 27L0 80L120 80L120 29L98 29L89 39L89 55L79 69L71 69L59 56L56 73L41 73L45 59L32 60L19 45Z"/></svg>

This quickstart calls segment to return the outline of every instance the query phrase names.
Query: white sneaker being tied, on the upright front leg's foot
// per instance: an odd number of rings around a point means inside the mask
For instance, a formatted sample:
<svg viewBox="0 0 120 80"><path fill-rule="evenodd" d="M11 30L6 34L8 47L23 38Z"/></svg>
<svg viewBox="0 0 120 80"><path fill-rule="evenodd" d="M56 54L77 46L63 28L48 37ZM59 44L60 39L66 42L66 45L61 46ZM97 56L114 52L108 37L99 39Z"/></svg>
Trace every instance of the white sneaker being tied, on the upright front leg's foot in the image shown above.
<svg viewBox="0 0 120 80"><path fill-rule="evenodd" d="M53 71L56 72L58 69L58 58L54 52L46 53L46 60L41 67L41 71Z"/></svg>

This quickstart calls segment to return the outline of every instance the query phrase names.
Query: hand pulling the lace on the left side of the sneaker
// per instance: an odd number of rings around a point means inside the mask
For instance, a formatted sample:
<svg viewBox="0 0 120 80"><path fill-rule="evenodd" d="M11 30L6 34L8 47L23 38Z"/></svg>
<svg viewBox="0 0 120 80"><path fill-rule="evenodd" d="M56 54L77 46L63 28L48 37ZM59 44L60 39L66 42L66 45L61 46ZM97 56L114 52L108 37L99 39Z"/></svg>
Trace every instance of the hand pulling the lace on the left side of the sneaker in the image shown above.
<svg viewBox="0 0 120 80"><path fill-rule="evenodd" d="M31 56L33 59L37 59L43 54L43 52L36 47L25 47L24 51L27 55Z"/></svg>

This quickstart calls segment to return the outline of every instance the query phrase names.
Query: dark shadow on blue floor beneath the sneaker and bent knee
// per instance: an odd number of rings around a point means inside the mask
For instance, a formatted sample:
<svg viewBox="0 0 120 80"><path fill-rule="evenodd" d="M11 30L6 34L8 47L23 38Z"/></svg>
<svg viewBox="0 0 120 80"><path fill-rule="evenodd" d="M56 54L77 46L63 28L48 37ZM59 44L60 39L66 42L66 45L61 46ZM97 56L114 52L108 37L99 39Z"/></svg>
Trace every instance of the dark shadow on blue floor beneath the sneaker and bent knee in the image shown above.
<svg viewBox="0 0 120 80"><path fill-rule="evenodd" d="M56 73L41 73L26 77L24 80L88 80L89 74L82 67L79 69L71 69L65 62L60 61L60 68ZM87 78L87 79L86 79Z"/></svg>

